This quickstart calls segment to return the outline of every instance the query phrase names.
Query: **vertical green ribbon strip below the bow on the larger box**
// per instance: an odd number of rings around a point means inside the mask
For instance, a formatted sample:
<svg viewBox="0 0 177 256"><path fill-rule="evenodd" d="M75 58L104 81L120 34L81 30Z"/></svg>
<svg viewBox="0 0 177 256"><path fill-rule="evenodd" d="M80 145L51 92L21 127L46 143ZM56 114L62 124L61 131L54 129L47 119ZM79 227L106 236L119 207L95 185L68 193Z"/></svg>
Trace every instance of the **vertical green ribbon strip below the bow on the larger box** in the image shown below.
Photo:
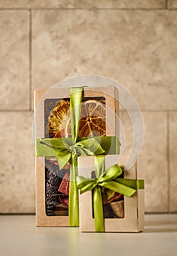
<svg viewBox="0 0 177 256"><path fill-rule="evenodd" d="M69 198L68 198L68 222L70 227L79 227L79 193L76 184L77 156L71 156Z"/></svg>

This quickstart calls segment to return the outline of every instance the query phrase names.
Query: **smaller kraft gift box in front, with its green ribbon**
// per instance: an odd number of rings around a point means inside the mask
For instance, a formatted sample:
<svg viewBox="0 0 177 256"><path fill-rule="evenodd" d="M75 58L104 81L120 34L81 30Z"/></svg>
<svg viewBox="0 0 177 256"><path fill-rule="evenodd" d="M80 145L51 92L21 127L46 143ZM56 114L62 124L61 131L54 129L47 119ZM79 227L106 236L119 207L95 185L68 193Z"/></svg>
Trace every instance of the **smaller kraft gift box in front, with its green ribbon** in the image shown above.
<svg viewBox="0 0 177 256"><path fill-rule="evenodd" d="M127 156L79 157L77 187L82 232L139 232L144 226L141 157L124 170ZM118 164L118 165L117 165Z"/></svg>

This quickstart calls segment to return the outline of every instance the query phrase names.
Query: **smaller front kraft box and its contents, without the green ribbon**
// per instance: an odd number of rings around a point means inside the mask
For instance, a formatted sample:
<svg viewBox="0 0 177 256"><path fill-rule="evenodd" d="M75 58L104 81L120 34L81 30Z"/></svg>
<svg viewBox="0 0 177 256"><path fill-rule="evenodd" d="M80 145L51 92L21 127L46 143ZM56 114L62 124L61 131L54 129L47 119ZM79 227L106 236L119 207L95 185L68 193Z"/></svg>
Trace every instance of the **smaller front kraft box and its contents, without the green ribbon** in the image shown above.
<svg viewBox="0 0 177 256"><path fill-rule="evenodd" d="M141 166L141 157L129 169L124 170L127 156L107 155L105 157L105 170L118 164L122 167L123 177L130 179L141 179L143 177ZM78 158L79 176L84 178L92 178L95 170L95 157L79 157ZM108 193L104 191L104 193ZM102 192L104 211L105 232L139 232L144 227L144 189L138 189L131 197L108 194L111 198L106 198ZM79 220L80 231L95 232L95 219L93 217L93 191L89 190L79 194Z"/></svg>

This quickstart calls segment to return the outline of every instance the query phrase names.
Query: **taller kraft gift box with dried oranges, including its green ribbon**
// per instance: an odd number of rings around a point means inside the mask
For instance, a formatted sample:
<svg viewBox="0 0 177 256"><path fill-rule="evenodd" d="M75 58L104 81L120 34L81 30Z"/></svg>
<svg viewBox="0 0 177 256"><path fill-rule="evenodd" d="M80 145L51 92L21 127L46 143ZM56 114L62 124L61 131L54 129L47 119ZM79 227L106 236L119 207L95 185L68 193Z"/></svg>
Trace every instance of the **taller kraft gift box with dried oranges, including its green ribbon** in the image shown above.
<svg viewBox="0 0 177 256"><path fill-rule="evenodd" d="M119 154L118 91L58 88L34 95L36 225L78 227L77 157Z"/></svg>

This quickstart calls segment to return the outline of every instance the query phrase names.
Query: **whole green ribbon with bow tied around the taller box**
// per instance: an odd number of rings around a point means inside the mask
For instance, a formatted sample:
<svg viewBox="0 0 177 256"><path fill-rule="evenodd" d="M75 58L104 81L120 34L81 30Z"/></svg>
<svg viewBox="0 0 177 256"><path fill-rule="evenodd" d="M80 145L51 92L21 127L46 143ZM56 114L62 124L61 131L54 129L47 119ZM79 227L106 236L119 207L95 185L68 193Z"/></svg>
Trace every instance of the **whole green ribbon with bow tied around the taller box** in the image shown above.
<svg viewBox="0 0 177 256"><path fill-rule="evenodd" d="M70 160L70 184L68 198L68 217L71 227L79 227L79 195L76 187L78 156L95 154L117 154L117 138L93 137L79 138L79 121L82 103L82 87L70 89L71 138L42 138L36 140L36 157L56 157L60 170Z"/></svg>

